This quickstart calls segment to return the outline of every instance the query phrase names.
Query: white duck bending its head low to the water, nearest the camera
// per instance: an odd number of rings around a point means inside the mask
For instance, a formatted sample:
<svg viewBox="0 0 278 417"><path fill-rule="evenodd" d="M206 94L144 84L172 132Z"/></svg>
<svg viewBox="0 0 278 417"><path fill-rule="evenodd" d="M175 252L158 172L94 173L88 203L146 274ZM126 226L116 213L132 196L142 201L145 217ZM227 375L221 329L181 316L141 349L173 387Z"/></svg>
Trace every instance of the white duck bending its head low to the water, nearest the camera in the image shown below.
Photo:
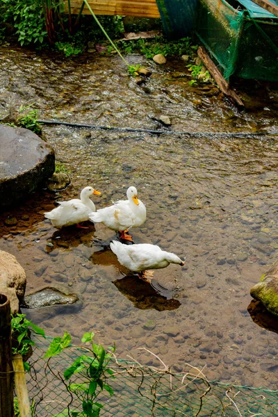
<svg viewBox="0 0 278 417"><path fill-rule="evenodd" d="M166 268L170 263L177 263L183 266L184 262L179 256L170 252L165 252L157 245L149 243L140 243L138 245L124 245L123 243L113 240L110 244L111 250L117 256L117 260L134 272L140 272L140 277L149 282L148 277L152 277L149 269Z"/></svg>

